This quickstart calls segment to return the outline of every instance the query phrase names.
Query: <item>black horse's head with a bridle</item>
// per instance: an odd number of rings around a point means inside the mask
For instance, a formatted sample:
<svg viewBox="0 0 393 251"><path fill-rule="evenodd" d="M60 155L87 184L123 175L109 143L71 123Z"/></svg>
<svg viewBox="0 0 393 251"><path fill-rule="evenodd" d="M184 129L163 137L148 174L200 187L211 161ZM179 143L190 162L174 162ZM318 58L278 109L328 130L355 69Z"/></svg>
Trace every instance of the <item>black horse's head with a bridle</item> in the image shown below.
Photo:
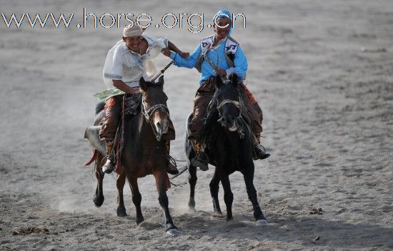
<svg viewBox="0 0 393 251"><path fill-rule="evenodd" d="M216 79L216 93L214 95L213 104L217 106L219 112L218 122L230 131L240 129L239 118L241 118L242 101L237 91L239 85L239 78L233 75L227 81L222 81L222 78L217 76Z"/></svg>

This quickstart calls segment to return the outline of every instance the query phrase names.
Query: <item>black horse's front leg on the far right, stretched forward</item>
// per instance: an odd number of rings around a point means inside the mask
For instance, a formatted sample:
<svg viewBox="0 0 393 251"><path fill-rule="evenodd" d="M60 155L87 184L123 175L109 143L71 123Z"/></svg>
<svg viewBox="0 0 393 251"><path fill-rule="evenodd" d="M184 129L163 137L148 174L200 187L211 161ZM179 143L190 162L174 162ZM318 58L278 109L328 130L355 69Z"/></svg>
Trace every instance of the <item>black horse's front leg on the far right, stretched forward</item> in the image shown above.
<svg viewBox="0 0 393 251"><path fill-rule="evenodd" d="M247 195L249 195L249 200L251 200L252 207L254 209L254 217L257 220L258 225L267 225L267 220L262 213L261 207L258 203L257 190L254 187L254 163L249 160L249 164L246 165L243 177L244 183L246 183Z"/></svg>

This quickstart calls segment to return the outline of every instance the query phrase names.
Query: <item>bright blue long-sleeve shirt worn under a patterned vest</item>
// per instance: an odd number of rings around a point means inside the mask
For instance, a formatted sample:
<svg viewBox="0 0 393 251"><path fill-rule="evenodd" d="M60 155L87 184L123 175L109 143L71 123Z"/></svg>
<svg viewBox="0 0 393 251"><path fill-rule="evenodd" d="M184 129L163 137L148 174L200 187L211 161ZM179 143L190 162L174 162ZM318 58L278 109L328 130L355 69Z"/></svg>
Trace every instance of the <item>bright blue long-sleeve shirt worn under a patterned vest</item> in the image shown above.
<svg viewBox="0 0 393 251"><path fill-rule="evenodd" d="M242 47L240 47L240 45L238 46L237 51L234 54L234 67L231 68L227 63L227 58L225 55L226 41L227 39L223 39L222 41L220 41L219 46L216 48L217 53L214 50L210 50L207 53L207 56L209 56L209 58L211 58L211 60L216 65L217 65L217 56L218 56L219 57L218 67L227 70L227 76L229 76L232 73L236 73L237 76L239 76L240 78L242 79L246 78L248 63L247 63L247 57L244 54ZM175 66L194 68L195 64L198 61L199 55L201 55L201 53L202 53L202 46L199 43L197 48L195 48L195 51L188 58L182 58L178 53L174 51L171 52L170 58L174 60ZM207 78L210 78L212 76L217 76L217 74L214 73L214 68L210 66L209 62L207 62L206 60L202 61L201 78L199 80L199 83L202 84L205 80L207 80Z"/></svg>

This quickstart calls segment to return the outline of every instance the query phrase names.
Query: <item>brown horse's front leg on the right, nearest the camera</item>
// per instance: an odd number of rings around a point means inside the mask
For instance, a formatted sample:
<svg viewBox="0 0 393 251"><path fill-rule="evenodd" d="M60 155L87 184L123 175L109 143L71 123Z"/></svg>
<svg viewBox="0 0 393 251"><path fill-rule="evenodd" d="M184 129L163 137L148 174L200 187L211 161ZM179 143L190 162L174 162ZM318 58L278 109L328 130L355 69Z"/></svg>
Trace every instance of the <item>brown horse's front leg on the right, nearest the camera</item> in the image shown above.
<svg viewBox="0 0 393 251"><path fill-rule="evenodd" d="M161 205L161 208L164 210L165 231L170 235L176 235L177 227L174 225L171 214L169 213L168 196L166 196L166 172L163 170L159 170L155 171L153 175L156 179L156 187L159 193L159 205Z"/></svg>

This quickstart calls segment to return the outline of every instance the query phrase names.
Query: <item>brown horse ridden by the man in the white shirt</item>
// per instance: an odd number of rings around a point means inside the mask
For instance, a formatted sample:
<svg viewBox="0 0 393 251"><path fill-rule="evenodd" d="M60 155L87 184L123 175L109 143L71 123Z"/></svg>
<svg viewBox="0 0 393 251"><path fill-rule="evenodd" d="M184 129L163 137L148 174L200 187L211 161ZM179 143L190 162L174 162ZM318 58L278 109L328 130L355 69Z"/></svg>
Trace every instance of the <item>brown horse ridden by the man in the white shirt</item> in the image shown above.
<svg viewBox="0 0 393 251"><path fill-rule="evenodd" d="M120 165L123 167L116 180L119 193L117 215L125 216L126 209L123 200L123 188L125 180L129 181L132 193L132 202L136 208L136 223L144 221L141 212L141 193L139 193L137 179L146 175L154 175L156 189L159 193L159 204L164 210L165 228L170 235L176 235L177 228L171 219L168 208L168 197L166 189L169 186L169 179L166 174L166 145L165 137L169 128L169 110L166 106L168 99L163 91L164 77L161 76L157 83L139 80L139 87L142 96L141 108L136 115L124 120L124 148L121 154ZM96 108L95 126L101 123L104 118L104 106ZM104 164L104 156L101 151L95 151L95 172L97 178L94 204L99 207L104 202L102 193L102 173L101 166Z"/></svg>

